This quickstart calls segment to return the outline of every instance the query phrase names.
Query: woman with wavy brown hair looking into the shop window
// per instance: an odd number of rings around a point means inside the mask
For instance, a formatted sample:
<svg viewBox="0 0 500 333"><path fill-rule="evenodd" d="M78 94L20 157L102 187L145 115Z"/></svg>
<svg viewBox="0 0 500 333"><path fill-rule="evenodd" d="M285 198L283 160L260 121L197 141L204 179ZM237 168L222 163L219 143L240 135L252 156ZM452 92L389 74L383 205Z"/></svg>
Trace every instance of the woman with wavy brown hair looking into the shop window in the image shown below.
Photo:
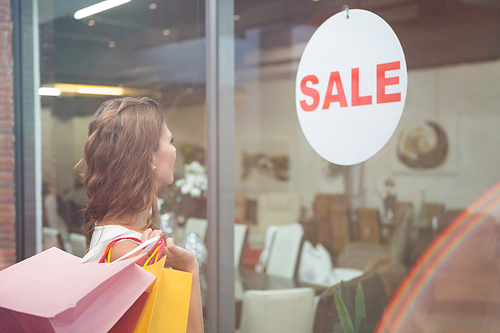
<svg viewBox="0 0 500 333"><path fill-rule="evenodd" d="M87 190L86 231L92 235L86 260L98 261L116 236L144 242L163 232L155 227L157 189L173 180L175 147L157 102L149 98L119 98L104 102L89 124L84 156L75 166ZM111 251L116 260L138 247L123 240ZM165 244L165 266L193 274L187 332L203 332L203 315L196 256Z"/></svg>

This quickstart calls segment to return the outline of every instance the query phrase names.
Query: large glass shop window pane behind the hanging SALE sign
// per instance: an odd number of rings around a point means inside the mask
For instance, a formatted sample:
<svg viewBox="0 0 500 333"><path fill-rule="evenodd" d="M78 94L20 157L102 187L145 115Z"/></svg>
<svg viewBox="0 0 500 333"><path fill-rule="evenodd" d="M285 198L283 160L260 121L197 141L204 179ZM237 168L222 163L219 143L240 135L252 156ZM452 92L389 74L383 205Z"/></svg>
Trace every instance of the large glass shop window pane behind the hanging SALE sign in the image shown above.
<svg viewBox="0 0 500 333"><path fill-rule="evenodd" d="M248 227L246 245L235 233L235 253L243 251L241 263L235 258L237 325L246 330L296 319L314 332L340 332L331 290L344 281L353 299L361 284L370 331L389 302L392 326L382 326L384 332L398 323L399 332L495 331L497 203L491 191L489 211L473 203L500 179L499 7L358 5L399 37L408 93L383 149L361 164L340 166L305 139L295 79L307 41L341 5L235 2L235 215L237 226ZM420 275L407 275L412 267ZM414 297L395 294L405 276L404 291ZM260 285L248 282L259 279ZM263 314L251 289L268 289L262 305L273 302L269 289L301 287L319 296L313 312L293 308L289 299L274 301L266 313L274 320L257 324L256 314ZM292 309L301 315L282 318L281 311Z"/></svg>

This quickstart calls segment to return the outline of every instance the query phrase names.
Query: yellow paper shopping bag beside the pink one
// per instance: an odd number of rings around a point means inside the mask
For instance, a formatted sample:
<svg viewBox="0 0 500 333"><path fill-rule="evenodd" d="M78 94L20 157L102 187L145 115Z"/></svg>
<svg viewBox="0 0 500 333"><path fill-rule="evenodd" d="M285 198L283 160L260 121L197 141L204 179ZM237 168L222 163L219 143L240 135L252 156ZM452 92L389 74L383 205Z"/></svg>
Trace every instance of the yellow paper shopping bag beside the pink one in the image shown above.
<svg viewBox="0 0 500 333"><path fill-rule="evenodd" d="M165 257L144 268L157 276L134 333L185 333L193 274L164 268Z"/></svg>

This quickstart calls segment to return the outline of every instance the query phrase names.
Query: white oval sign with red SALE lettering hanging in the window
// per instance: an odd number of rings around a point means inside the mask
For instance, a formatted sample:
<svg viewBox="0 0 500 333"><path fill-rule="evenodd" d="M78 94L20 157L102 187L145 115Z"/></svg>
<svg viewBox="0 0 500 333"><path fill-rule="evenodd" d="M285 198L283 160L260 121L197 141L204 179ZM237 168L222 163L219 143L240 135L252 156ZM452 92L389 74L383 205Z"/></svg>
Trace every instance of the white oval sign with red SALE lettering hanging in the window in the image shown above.
<svg viewBox="0 0 500 333"><path fill-rule="evenodd" d="M361 163L394 133L406 87L406 61L391 27L366 10L340 12L314 32L300 59L300 126L326 160Z"/></svg>

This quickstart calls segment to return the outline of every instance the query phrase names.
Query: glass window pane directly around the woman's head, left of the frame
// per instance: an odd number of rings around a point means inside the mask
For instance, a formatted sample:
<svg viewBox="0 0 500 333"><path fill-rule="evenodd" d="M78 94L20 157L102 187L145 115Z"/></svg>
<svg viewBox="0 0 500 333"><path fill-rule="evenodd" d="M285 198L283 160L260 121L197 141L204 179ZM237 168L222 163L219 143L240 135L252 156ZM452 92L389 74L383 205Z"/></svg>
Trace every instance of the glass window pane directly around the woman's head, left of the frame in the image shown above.
<svg viewBox="0 0 500 333"><path fill-rule="evenodd" d="M38 3L43 248L55 244L77 255L85 249L75 234L85 222L86 194L72 169L103 101L158 100L175 138L176 179L186 177L187 165L206 178L203 2L131 1L76 18L97 2ZM162 222L179 243L186 220L206 218L205 190L196 183L189 191L175 184L159 191L160 212L168 213Z"/></svg>

